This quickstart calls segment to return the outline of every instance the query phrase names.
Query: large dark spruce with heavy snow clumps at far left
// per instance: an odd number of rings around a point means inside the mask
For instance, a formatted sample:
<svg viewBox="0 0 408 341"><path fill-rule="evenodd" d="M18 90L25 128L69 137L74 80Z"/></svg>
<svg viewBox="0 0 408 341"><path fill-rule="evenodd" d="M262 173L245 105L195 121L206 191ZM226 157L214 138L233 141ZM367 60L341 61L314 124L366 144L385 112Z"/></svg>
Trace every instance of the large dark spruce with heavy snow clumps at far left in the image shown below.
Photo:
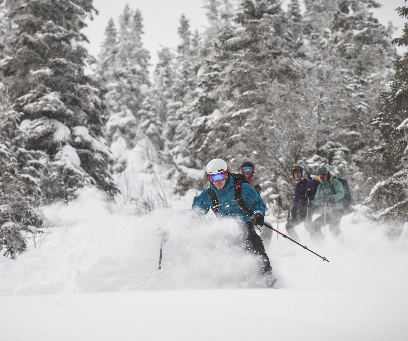
<svg viewBox="0 0 408 341"><path fill-rule="evenodd" d="M106 112L100 90L84 75L85 63L93 59L79 44L86 41L80 30L93 11L91 0L39 0L23 1L9 14L18 31L1 71L13 109L22 113L26 149L51 158L41 184L49 199L67 199L86 185L116 192L108 171L114 157L102 137Z"/></svg>

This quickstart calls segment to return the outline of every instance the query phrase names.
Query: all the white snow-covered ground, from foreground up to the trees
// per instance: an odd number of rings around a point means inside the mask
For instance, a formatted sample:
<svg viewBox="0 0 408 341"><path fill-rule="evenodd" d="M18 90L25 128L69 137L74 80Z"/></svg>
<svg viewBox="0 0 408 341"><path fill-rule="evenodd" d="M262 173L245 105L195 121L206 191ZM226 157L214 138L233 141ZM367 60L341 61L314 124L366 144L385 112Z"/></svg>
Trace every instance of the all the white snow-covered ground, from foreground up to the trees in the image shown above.
<svg viewBox="0 0 408 341"><path fill-rule="evenodd" d="M231 246L237 225L197 220L194 190L170 195L168 170L128 154L115 204L82 189L44 208L35 248L0 259L1 340L407 339L408 226L389 238L358 208L341 220L344 245L328 231L316 245L299 225L301 243L330 262L274 233L279 289L265 289L258 260Z"/></svg>

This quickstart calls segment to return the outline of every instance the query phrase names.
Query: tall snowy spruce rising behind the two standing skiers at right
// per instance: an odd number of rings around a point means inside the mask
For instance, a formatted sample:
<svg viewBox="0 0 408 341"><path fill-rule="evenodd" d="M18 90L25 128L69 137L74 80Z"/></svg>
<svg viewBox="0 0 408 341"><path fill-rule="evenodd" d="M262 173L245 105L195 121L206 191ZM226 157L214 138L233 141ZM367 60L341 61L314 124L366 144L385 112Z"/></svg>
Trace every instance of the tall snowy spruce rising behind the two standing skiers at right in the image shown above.
<svg viewBox="0 0 408 341"><path fill-rule="evenodd" d="M372 16L370 8L379 6L374 1L305 4L300 52L315 67L305 72L314 91L303 92L302 98L319 120L314 152L326 157L337 175L348 178L359 202L368 194L364 179L370 170L359 170L361 153L373 143L368 122L376 110L377 93L392 77L396 57L390 44L392 28Z"/></svg>

